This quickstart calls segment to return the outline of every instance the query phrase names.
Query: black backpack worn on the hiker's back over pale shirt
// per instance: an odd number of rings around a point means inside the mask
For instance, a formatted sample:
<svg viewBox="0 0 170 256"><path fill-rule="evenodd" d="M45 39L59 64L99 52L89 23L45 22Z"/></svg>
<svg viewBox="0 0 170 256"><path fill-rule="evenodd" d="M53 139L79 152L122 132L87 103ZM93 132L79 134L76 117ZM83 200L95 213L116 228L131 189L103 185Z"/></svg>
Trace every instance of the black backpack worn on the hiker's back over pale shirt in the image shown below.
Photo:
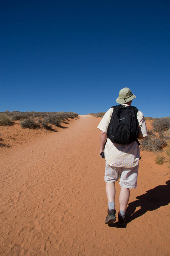
<svg viewBox="0 0 170 256"><path fill-rule="evenodd" d="M118 144L129 144L138 141L139 123L137 119L138 109L134 106L113 106L113 113L108 125L107 135L109 139Z"/></svg>

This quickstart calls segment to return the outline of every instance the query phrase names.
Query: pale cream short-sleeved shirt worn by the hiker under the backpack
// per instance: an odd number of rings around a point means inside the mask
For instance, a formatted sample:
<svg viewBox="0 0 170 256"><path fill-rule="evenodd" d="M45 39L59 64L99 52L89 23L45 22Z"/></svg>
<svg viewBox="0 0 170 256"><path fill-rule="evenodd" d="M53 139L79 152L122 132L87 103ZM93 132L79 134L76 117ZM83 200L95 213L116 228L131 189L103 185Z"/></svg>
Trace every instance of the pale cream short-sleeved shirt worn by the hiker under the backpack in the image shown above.
<svg viewBox="0 0 170 256"><path fill-rule="evenodd" d="M104 114L102 120L97 127L99 130L107 133L108 124L110 123L112 113L113 108L110 108ZM137 112L137 119L139 122L139 137L147 136L147 127L143 113L141 111ZM106 163L108 165L116 167L134 167L139 164L139 153L139 145L136 141L130 144L122 145L113 143L109 138L107 138L104 155Z"/></svg>

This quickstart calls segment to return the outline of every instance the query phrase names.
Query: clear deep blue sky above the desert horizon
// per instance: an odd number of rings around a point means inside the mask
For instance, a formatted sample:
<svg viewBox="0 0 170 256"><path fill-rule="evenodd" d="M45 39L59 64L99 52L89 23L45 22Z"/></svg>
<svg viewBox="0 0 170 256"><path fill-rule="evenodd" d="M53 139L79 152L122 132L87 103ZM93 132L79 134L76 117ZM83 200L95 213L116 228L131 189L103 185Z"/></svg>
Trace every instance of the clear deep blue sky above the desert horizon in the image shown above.
<svg viewBox="0 0 170 256"><path fill-rule="evenodd" d="M170 116L170 2L3 1L0 111Z"/></svg>

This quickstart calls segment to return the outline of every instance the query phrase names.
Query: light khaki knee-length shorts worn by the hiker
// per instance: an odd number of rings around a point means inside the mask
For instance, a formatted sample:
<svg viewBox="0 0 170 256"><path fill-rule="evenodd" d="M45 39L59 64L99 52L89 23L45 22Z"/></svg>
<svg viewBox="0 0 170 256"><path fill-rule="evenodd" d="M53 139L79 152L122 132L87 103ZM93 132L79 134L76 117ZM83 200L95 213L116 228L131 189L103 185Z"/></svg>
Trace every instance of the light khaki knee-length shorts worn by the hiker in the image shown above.
<svg viewBox="0 0 170 256"><path fill-rule="evenodd" d="M106 163L104 180L105 182L114 183L119 178L119 184L125 188L136 188L139 165L135 167L115 167Z"/></svg>

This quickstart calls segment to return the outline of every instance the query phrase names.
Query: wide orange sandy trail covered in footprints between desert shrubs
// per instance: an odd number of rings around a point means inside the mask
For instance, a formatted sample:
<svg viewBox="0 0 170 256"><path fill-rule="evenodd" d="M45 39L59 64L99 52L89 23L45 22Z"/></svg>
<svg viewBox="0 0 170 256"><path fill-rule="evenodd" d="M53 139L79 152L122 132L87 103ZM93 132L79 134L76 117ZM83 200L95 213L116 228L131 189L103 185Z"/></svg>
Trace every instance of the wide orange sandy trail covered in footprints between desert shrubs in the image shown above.
<svg viewBox="0 0 170 256"><path fill-rule="evenodd" d="M99 122L81 115L68 129L1 149L0 256L169 255L170 175L153 153L141 152L127 226L104 224Z"/></svg>

